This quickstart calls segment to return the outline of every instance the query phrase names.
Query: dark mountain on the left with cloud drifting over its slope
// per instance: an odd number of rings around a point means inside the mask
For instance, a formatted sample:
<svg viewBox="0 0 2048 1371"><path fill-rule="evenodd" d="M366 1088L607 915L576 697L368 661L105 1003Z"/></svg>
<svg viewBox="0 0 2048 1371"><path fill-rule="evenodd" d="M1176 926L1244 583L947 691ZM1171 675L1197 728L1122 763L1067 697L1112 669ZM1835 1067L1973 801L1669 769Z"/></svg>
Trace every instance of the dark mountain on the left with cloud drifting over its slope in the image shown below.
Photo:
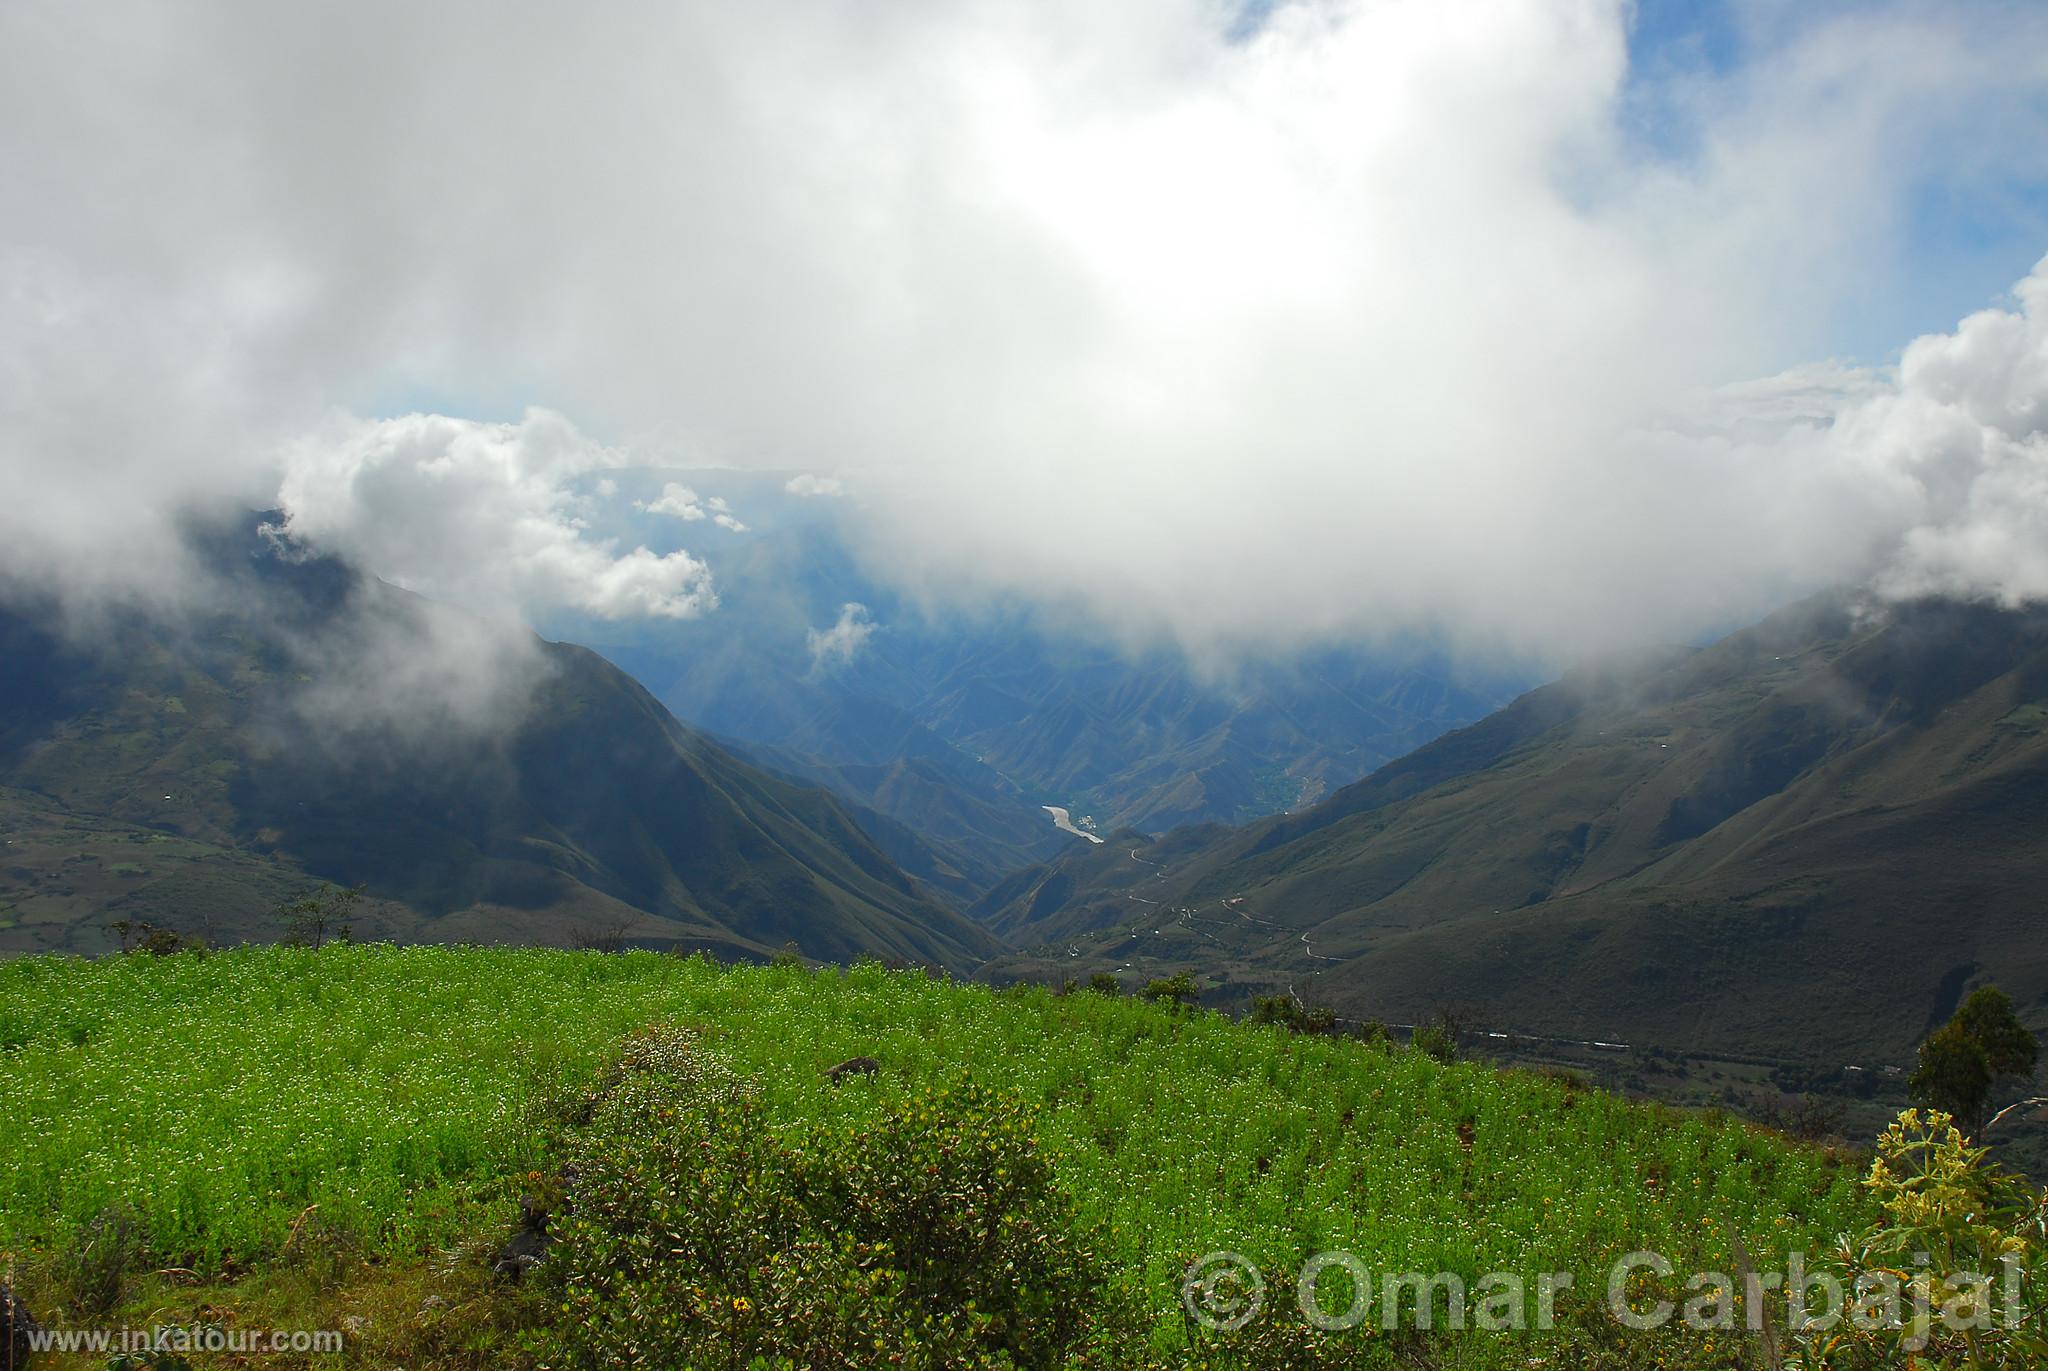
<svg viewBox="0 0 2048 1371"><path fill-rule="evenodd" d="M598 654L496 633L248 529L211 609L63 633L0 611L0 947L133 916L268 930L315 881L362 932L971 967L997 949L844 801L680 725Z"/></svg>

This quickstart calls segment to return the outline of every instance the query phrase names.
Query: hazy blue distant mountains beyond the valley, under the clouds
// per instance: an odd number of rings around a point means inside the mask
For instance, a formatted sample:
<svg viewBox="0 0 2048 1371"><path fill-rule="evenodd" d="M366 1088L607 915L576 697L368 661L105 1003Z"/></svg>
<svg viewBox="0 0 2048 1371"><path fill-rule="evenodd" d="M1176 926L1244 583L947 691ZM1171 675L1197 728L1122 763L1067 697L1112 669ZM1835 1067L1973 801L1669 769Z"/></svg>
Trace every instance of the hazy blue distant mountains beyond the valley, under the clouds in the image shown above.
<svg viewBox="0 0 2048 1371"><path fill-rule="evenodd" d="M864 572L850 527L825 508L836 502L791 498L778 477L604 480L612 494L592 496L592 529L655 551L686 541L713 568L721 609L559 631L678 717L911 828L969 896L1075 842L1042 805L1147 832L1247 822L1313 803L1528 682L1454 670L1421 641L1204 674L1178 650L1133 652L1040 611L930 609ZM717 494L748 527L647 512L672 486Z"/></svg>

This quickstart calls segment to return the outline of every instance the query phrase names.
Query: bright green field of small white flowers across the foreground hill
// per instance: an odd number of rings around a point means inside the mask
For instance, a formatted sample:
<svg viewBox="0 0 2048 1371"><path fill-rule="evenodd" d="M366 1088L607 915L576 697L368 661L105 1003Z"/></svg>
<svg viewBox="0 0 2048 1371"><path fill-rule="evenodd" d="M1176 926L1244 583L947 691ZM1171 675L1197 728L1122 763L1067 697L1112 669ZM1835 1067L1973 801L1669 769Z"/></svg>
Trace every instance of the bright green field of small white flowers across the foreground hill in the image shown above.
<svg viewBox="0 0 2048 1371"><path fill-rule="evenodd" d="M1219 1248L1599 1291L1622 1252L1733 1271L1739 1232L1769 1269L1868 1221L1853 1164L1722 1117L1128 998L330 947L0 963L0 1250L33 1258L109 1209L203 1277L260 1266L309 1205L393 1262L502 1232L543 1164L541 1107L651 1023L698 1029L791 1129L858 1127L963 1072L1020 1094L1155 1344ZM827 1086L856 1053L881 1074Z"/></svg>

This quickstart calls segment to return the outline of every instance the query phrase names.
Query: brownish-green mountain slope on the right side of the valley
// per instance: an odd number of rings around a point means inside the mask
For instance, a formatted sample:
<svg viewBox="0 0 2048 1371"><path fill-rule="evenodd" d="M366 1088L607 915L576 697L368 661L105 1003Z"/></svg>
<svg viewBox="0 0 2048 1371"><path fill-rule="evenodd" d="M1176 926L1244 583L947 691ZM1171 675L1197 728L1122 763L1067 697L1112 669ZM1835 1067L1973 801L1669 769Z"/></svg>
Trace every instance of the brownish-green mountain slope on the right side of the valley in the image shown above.
<svg viewBox="0 0 2048 1371"><path fill-rule="evenodd" d="M1581 670L1303 814L1014 875L1008 969L1221 965L1358 1014L1903 1060L2048 1016L2048 611L1835 594Z"/></svg>

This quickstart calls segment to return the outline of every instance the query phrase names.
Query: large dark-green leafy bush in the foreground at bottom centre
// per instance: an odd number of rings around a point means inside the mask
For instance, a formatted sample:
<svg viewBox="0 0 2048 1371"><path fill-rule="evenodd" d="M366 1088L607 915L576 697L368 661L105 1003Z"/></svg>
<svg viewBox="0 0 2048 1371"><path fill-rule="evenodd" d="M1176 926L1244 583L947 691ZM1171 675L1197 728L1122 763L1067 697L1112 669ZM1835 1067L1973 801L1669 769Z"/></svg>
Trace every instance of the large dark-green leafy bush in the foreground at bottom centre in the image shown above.
<svg viewBox="0 0 2048 1371"><path fill-rule="evenodd" d="M1055 1367L1100 1305L1030 1115L971 1082L778 1133L752 1082L659 1029L563 1174L551 1365Z"/></svg>

